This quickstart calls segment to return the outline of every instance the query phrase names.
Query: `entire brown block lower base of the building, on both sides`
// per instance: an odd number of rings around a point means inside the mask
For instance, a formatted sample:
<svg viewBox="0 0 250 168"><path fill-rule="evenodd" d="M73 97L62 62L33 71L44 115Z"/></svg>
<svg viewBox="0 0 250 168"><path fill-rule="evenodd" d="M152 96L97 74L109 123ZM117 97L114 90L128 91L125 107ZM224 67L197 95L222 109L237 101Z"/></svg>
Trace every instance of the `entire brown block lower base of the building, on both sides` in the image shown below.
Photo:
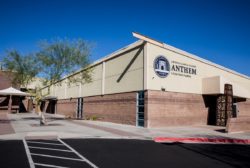
<svg viewBox="0 0 250 168"><path fill-rule="evenodd" d="M83 117L136 125L136 93L85 97ZM199 94L145 91L145 127L207 125L208 115L215 114L216 101L212 100ZM77 99L58 100L57 114L75 118L76 104ZM239 103L240 116L250 116L249 109L249 100Z"/></svg>

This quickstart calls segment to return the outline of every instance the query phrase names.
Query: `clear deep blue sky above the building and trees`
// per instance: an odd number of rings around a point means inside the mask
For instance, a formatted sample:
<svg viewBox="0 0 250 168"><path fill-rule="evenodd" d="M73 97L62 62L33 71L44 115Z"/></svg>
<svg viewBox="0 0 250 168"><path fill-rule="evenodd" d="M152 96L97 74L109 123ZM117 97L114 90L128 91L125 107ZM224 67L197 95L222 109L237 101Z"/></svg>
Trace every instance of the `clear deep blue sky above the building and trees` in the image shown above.
<svg viewBox="0 0 250 168"><path fill-rule="evenodd" d="M250 76L250 0L1 0L0 60L56 37L95 44L96 60L136 31Z"/></svg>

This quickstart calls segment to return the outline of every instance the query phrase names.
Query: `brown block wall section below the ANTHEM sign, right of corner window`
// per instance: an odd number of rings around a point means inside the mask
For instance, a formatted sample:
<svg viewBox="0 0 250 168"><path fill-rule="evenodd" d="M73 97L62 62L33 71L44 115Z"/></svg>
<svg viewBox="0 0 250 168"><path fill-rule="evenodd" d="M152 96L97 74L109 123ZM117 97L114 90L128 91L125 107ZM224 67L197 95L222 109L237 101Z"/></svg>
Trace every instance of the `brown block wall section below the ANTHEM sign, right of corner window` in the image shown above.
<svg viewBox="0 0 250 168"><path fill-rule="evenodd" d="M145 92L147 127L207 124L202 95L163 91Z"/></svg>

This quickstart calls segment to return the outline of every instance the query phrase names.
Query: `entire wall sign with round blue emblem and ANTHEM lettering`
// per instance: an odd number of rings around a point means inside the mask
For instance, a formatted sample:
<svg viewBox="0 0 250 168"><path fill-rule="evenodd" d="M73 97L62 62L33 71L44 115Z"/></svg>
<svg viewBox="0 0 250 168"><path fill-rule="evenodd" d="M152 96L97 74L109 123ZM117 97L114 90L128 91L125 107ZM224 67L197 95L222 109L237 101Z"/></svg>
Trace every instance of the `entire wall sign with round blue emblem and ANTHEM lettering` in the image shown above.
<svg viewBox="0 0 250 168"><path fill-rule="evenodd" d="M183 76L191 78L192 75L197 75L197 70L195 65L181 63L177 61L171 61L169 64L167 58L164 56L156 57L154 61L155 73L161 77L165 78L171 71L171 75Z"/></svg>

